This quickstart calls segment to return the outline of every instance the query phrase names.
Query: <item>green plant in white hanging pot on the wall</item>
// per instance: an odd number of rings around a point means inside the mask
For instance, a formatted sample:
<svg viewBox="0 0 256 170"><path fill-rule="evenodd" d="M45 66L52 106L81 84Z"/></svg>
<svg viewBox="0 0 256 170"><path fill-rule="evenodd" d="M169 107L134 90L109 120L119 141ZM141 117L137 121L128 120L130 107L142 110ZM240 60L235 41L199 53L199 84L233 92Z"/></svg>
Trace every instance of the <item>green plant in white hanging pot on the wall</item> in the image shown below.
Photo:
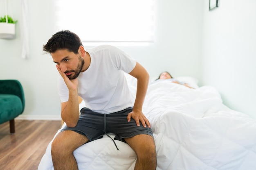
<svg viewBox="0 0 256 170"><path fill-rule="evenodd" d="M17 20L13 20L9 15L0 17L0 38L14 39L15 38L15 24Z"/></svg>

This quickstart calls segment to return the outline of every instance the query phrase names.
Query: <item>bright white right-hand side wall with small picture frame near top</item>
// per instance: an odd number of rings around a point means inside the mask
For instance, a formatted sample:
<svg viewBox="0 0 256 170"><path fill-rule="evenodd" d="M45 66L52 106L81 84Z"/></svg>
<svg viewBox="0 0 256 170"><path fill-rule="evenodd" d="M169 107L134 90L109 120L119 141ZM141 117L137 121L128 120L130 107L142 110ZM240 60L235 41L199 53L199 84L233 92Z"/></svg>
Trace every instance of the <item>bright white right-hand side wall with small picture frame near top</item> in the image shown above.
<svg viewBox="0 0 256 170"><path fill-rule="evenodd" d="M256 118L256 1L204 2L202 84L212 85L231 109Z"/></svg>

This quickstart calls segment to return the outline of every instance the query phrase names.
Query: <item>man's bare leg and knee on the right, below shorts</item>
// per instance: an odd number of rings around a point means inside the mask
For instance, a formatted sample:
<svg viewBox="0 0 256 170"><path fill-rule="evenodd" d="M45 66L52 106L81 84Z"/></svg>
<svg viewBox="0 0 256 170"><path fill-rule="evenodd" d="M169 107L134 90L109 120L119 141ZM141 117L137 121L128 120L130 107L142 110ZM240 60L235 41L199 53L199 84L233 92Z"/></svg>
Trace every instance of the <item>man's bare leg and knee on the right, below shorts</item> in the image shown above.
<svg viewBox="0 0 256 170"><path fill-rule="evenodd" d="M125 139L127 144L137 154L137 162L134 170L155 170L157 158L155 142L150 135L136 135Z"/></svg>

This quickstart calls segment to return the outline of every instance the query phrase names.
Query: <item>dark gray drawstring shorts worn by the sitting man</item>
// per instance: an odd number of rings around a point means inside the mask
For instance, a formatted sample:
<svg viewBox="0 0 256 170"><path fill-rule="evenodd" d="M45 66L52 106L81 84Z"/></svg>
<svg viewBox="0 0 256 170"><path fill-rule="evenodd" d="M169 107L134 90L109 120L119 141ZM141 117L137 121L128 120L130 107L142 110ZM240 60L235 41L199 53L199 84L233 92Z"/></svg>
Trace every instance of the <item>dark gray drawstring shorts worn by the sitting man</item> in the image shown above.
<svg viewBox="0 0 256 170"><path fill-rule="evenodd" d="M79 121L75 127L65 126L61 131L71 130L85 135L89 141L101 138L104 134L114 133L115 139L124 141L124 138L133 137L139 134L147 134L153 137L152 130L141 124L137 126L134 119L127 121L128 113L132 107L115 113L102 114L88 108L81 109Z"/></svg>

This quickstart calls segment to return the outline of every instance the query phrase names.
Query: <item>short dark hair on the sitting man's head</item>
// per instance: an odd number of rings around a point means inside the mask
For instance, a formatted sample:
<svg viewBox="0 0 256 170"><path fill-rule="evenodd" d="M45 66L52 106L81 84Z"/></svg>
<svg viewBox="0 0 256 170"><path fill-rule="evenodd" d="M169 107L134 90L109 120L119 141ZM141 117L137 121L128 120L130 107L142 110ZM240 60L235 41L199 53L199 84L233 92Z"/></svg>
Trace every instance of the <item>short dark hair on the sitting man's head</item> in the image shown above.
<svg viewBox="0 0 256 170"><path fill-rule="evenodd" d="M66 49L70 52L78 54L78 49L83 46L81 39L75 33L71 31L64 30L55 33L52 38L50 38L47 44L43 45L43 50L45 52L56 52L57 50Z"/></svg>

